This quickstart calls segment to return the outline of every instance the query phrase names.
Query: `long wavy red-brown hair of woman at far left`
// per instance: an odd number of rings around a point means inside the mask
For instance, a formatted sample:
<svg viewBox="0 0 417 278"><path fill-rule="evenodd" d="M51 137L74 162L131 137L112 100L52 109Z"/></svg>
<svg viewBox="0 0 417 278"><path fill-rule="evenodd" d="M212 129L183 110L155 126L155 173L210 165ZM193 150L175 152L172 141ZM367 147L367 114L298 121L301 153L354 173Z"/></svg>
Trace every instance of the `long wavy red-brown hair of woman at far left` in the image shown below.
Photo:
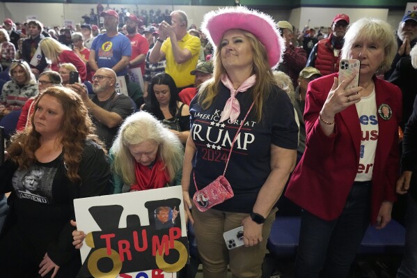
<svg viewBox="0 0 417 278"><path fill-rule="evenodd" d="M63 107L64 117L58 138L63 145L63 161L67 166L67 176L72 183L79 183L81 177L78 171L84 142L86 139L91 139L102 148L104 145L95 135L93 122L88 116L88 110L83 100L70 88L52 86L40 95L35 103L35 112L31 116L31 125L12 137L12 144L8 147L8 153L22 169L27 169L36 162L35 152L40 147L41 134L35 130L33 122L38 103L45 95L56 98ZM104 148L103 150L105 151Z"/></svg>

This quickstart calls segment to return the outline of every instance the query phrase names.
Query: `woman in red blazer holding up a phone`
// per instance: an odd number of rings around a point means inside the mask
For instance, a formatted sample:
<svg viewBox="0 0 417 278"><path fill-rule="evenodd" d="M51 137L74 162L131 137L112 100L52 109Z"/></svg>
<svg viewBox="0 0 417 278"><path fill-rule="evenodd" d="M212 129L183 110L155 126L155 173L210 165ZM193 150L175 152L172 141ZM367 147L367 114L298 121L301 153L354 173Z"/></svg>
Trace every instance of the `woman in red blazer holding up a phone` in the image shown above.
<svg viewBox="0 0 417 278"><path fill-rule="evenodd" d="M398 178L401 91L375 74L391 67L397 46L391 26L354 22L343 59L361 61L359 86L351 75L310 82L306 96L306 150L294 170L289 199L303 208L296 277L347 277L370 222L391 220Z"/></svg>

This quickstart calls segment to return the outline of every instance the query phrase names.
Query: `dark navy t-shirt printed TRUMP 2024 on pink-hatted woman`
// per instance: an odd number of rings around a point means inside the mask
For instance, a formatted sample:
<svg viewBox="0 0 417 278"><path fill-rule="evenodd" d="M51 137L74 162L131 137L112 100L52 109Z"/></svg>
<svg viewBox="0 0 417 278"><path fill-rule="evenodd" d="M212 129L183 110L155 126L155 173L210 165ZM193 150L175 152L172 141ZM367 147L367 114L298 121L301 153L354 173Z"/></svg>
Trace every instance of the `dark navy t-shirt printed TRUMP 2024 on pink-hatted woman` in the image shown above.
<svg viewBox="0 0 417 278"><path fill-rule="evenodd" d="M231 142L252 104L252 88L247 92L237 93L236 98L240 104L239 117L235 123L230 123L229 119L219 123L223 107L230 98L230 90L223 84L219 87L219 94L208 109L204 110L198 105L198 98L194 98L190 104L191 139L196 145L189 185L191 198L196 192L193 173L198 190L223 173ZM213 208L250 213L258 192L271 171L271 144L281 148L297 149L298 128L288 95L274 86L274 90L264 102L262 120L256 121L253 108L239 133L225 175L235 196Z"/></svg>

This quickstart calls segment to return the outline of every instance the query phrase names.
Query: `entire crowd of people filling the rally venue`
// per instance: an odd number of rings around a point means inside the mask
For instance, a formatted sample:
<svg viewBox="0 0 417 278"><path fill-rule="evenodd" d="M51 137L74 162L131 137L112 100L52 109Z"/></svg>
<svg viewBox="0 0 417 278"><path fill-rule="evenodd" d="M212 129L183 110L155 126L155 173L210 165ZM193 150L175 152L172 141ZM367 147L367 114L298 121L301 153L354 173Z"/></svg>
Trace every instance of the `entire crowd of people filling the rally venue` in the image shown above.
<svg viewBox="0 0 417 278"><path fill-rule="evenodd" d="M416 12L396 31L338 13L327 33L244 6L201 29L182 10L99 4L83 19L0 29L6 277L77 275L74 199L167 186L182 187L208 278L261 277L277 202L301 215L294 276L348 277L368 226L408 193L397 277L417 277ZM341 60L360 61L358 84ZM233 196L207 195L226 185ZM239 226L244 247L228 249Z"/></svg>

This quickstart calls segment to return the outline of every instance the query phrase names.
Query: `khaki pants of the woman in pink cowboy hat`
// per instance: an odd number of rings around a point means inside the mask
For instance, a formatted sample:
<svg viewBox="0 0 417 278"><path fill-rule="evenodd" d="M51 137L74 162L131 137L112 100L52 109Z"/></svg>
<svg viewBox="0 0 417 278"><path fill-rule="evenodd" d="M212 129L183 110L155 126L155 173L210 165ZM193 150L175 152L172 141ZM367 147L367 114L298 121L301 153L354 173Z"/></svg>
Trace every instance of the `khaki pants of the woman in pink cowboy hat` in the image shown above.
<svg viewBox="0 0 417 278"><path fill-rule="evenodd" d="M262 227L262 242L253 247L226 248L223 233L238 226L247 213L226 213L210 209L201 213L193 207L194 231L198 253L203 262L204 278L226 278L228 265L233 277L259 278L262 275L262 262L267 251L267 239L275 219L276 208L271 210Z"/></svg>

